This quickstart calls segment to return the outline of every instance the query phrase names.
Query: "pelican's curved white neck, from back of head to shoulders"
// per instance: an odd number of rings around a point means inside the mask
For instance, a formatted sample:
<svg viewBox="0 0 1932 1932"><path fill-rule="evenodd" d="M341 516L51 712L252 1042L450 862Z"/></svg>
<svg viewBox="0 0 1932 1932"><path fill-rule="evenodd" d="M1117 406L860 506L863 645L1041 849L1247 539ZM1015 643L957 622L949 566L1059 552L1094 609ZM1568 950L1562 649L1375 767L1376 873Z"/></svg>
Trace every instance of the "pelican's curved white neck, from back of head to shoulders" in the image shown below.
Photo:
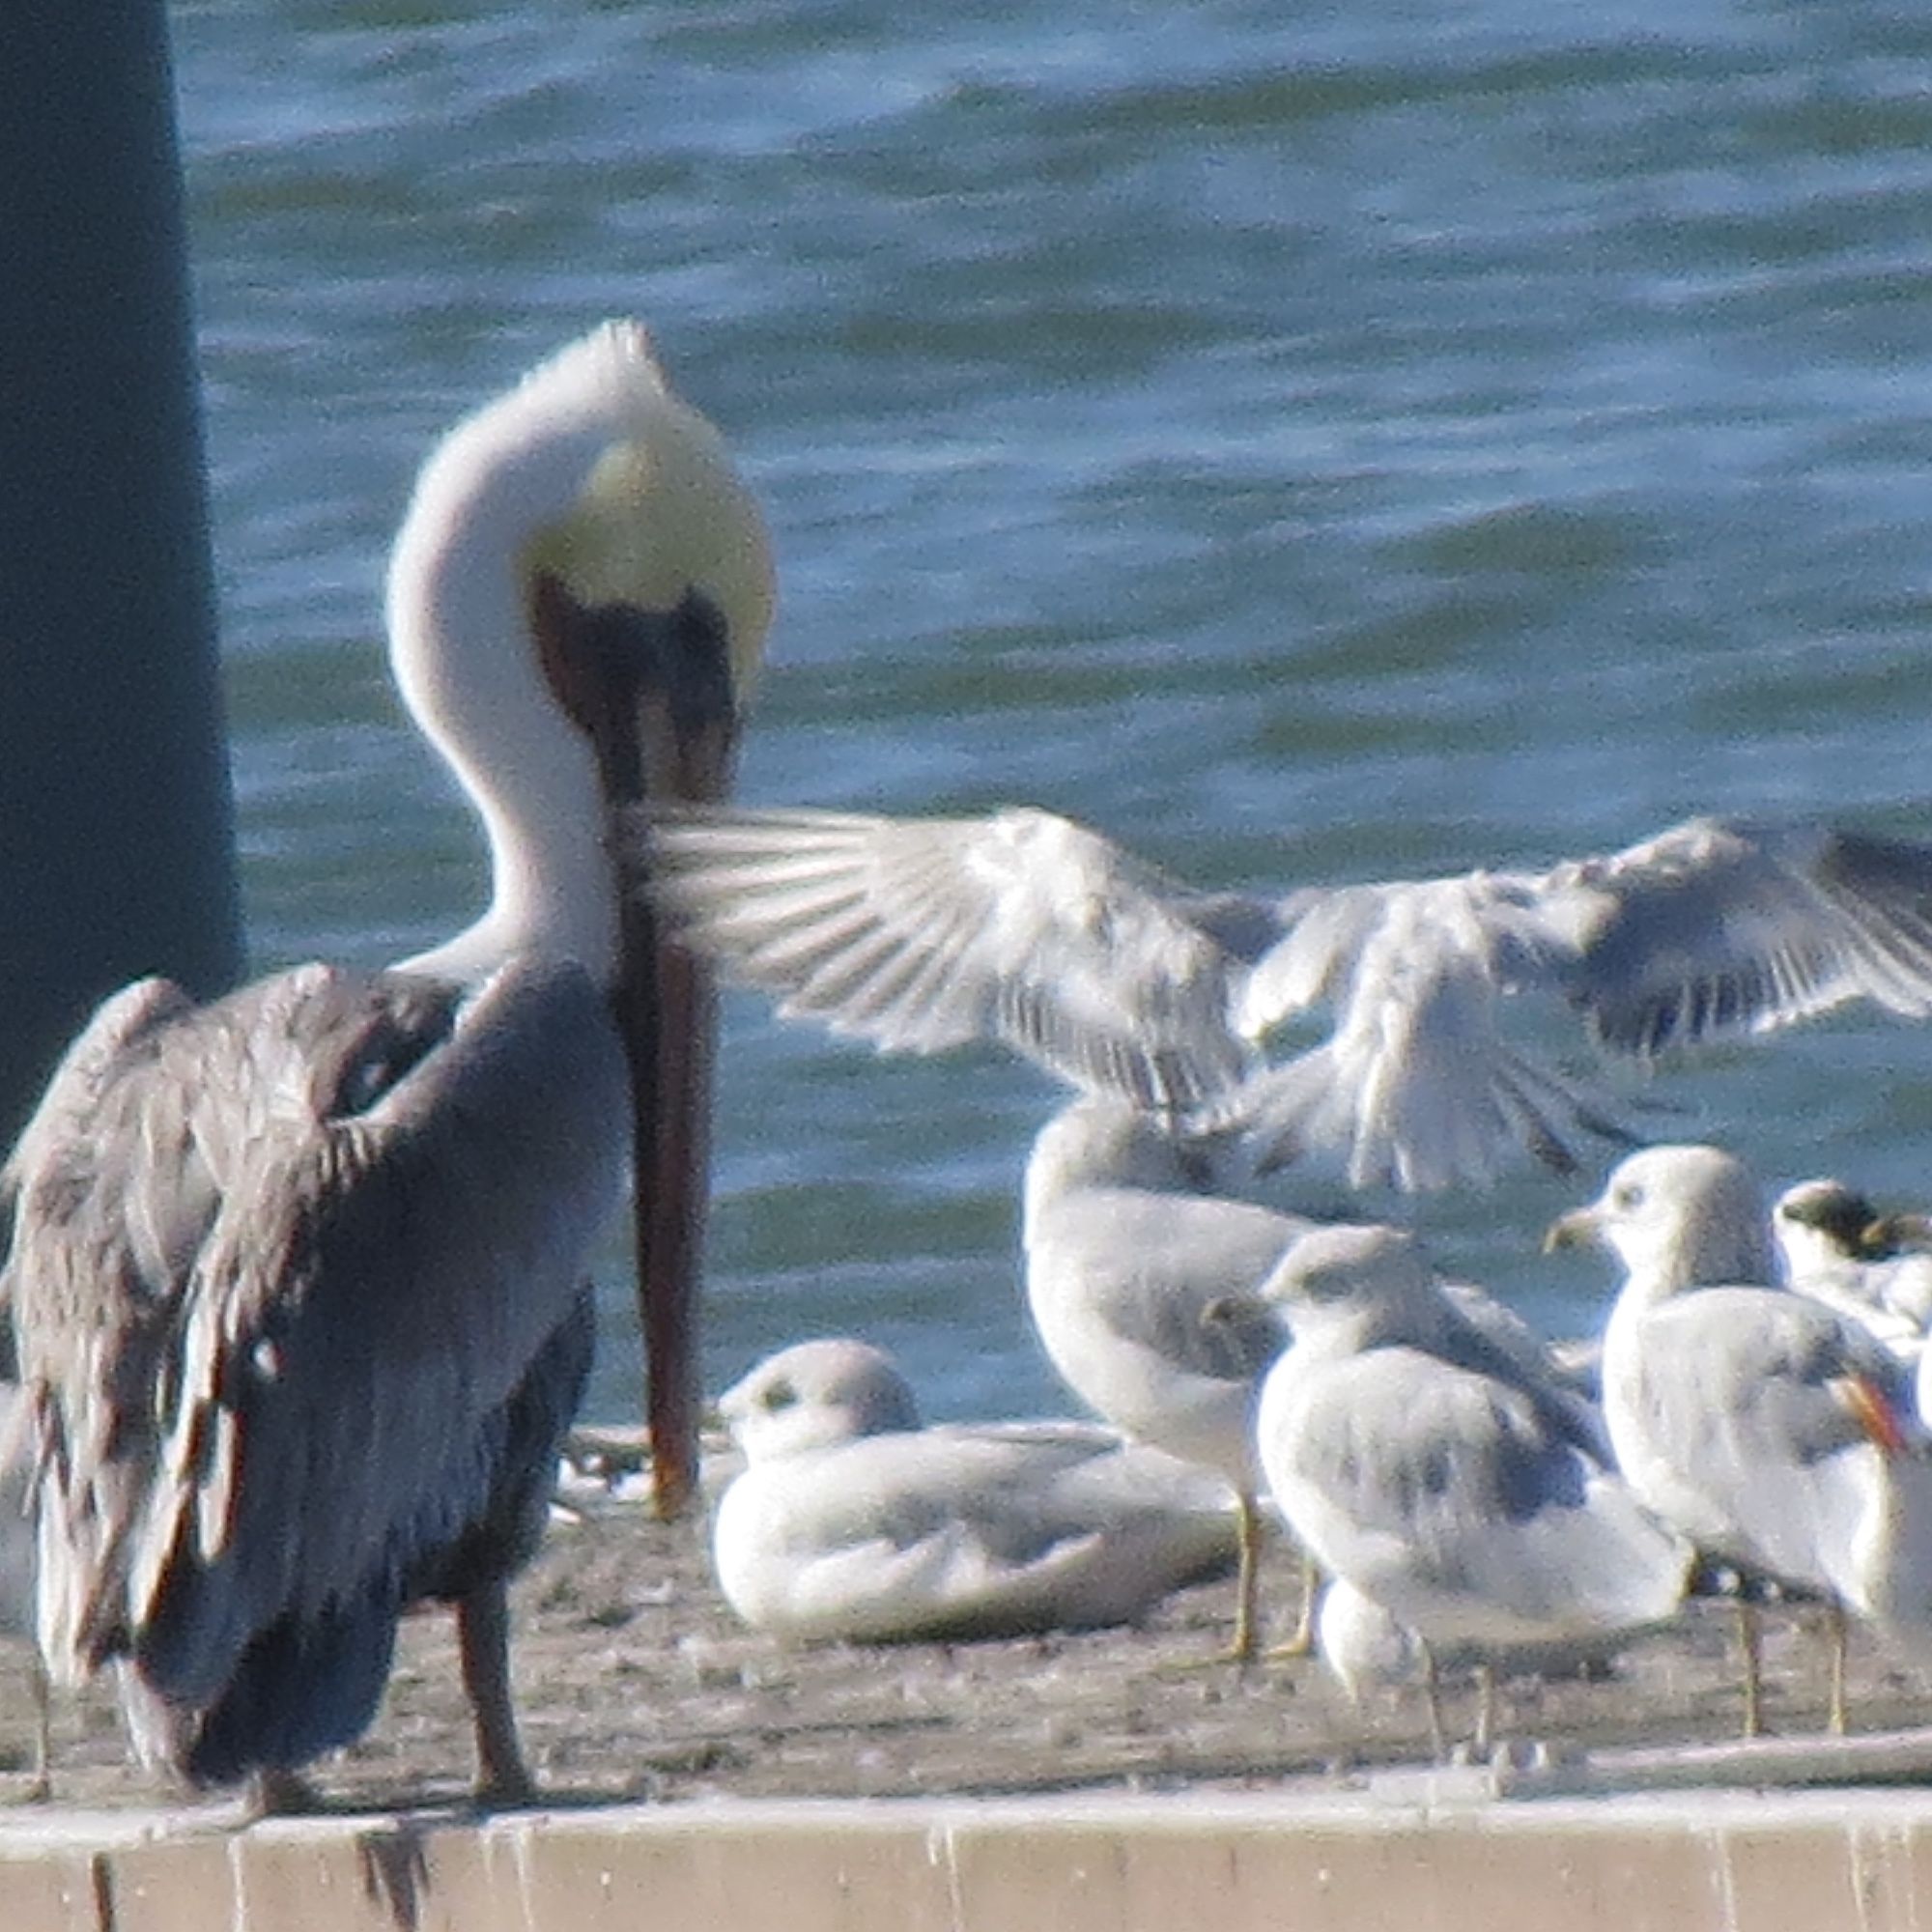
<svg viewBox="0 0 1932 1932"><path fill-rule="evenodd" d="M489 912L402 960L406 972L473 983L535 954L614 976L618 900L597 765L545 684L524 585L533 526L572 498L605 440L587 431L481 473L433 464L396 539L396 684L469 794L491 856Z"/></svg>

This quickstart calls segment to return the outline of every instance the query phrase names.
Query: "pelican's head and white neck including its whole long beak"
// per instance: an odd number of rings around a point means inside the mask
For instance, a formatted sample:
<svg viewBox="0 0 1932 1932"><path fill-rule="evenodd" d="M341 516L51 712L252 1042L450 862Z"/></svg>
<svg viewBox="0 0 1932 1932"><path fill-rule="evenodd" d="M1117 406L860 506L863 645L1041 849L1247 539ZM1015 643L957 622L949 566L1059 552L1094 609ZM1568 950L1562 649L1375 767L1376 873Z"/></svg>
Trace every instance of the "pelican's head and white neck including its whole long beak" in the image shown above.
<svg viewBox="0 0 1932 1932"><path fill-rule="evenodd" d="M475 925L404 966L475 985L510 958L576 962L612 989L667 1515L697 1474L713 1018L699 970L626 898L620 825L645 802L723 796L771 601L757 504L636 323L450 431L388 572L396 684L483 819L493 885Z"/></svg>

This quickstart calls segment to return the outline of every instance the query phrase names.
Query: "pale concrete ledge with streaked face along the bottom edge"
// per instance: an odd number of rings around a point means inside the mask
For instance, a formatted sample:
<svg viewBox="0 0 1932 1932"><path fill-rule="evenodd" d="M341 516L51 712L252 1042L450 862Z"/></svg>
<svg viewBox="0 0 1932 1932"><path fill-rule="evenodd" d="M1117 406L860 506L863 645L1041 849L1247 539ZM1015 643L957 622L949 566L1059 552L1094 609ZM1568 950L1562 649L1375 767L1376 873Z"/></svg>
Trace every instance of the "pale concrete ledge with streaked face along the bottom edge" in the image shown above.
<svg viewBox="0 0 1932 1932"><path fill-rule="evenodd" d="M1932 1793L717 1801L0 1822L50 1932L1774 1932L1932 1922Z"/></svg>

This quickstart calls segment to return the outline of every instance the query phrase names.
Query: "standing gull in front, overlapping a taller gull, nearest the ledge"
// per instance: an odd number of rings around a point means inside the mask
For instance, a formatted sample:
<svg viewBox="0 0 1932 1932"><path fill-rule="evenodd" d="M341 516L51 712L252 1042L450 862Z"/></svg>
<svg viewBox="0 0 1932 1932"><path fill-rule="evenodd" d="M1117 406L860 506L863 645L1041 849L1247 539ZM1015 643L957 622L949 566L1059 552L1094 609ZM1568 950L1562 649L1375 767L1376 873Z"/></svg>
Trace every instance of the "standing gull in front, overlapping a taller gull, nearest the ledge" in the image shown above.
<svg viewBox="0 0 1932 1932"><path fill-rule="evenodd" d="M1333 1227L1262 1287L1293 1347L1262 1389L1262 1468L1329 1577L1437 1662L1648 1629L1683 1600L1690 1546L1605 1466L1590 1405L1497 1349L1414 1236ZM1482 1725L1478 1729L1484 1729Z"/></svg>

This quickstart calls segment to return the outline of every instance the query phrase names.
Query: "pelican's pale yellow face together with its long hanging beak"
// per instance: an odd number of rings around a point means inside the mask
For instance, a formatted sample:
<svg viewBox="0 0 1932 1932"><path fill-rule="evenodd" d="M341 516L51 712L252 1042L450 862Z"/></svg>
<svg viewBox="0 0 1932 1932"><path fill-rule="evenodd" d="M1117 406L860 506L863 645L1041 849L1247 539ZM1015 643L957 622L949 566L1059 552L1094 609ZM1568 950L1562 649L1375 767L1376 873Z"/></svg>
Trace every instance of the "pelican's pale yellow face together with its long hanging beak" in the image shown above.
<svg viewBox="0 0 1932 1932"><path fill-rule="evenodd" d="M641 344L641 332L639 332ZM626 821L730 790L738 724L771 618L771 551L717 433L645 355L655 390L580 514L531 556L545 676L589 736L618 891L612 989L630 1061L638 1306L657 1509L697 1492L697 1279L709 1192L715 999L622 877Z"/></svg>

